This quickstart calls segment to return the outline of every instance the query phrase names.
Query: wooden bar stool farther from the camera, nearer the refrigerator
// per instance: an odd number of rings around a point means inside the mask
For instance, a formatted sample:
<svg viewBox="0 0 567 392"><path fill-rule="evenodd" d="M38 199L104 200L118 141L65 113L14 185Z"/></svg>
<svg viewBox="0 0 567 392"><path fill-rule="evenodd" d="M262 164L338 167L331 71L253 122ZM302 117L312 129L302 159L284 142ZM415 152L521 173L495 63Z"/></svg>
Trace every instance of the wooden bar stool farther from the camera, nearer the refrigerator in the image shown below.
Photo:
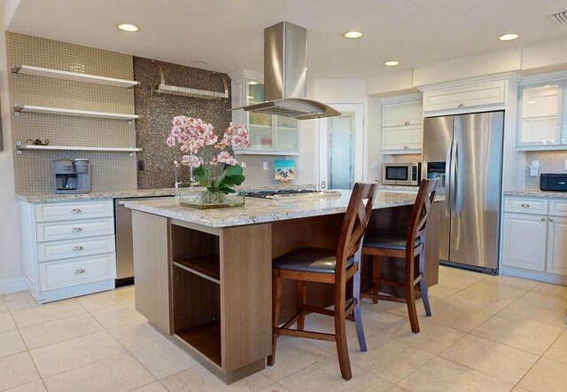
<svg viewBox="0 0 567 392"><path fill-rule="evenodd" d="M423 298L423 307L427 317L431 317L431 307L427 298L427 285L425 284L425 234L427 232L427 217L435 194L439 188L439 180L423 179L419 185L416 203L412 209L407 234L377 233L368 231L362 245L362 258L364 255L372 256L372 286L361 293L362 298L372 298L393 302L406 302L408 304L409 323L414 333L419 333L419 322L416 312L416 286ZM399 257L405 259L405 279L403 282L380 278L382 256ZM416 256L419 256L417 274L415 272ZM404 287L405 298L380 293L380 285Z"/></svg>

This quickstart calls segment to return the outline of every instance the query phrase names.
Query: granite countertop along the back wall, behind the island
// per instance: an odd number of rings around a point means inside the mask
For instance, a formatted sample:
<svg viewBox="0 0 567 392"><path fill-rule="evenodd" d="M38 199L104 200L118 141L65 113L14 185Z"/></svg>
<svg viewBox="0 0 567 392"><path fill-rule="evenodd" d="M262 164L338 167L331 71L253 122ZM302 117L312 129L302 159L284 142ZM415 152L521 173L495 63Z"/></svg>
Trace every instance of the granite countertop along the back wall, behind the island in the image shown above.
<svg viewBox="0 0 567 392"><path fill-rule="evenodd" d="M240 191L252 191L261 189L315 189L315 184L268 184L237 186ZM149 198L160 196L174 196L175 188L161 189L135 189L127 191L103 191L90 193L19 193L16 199L27 201L28 203L45 203L55 201L74 201L74 200L100 200L100 199L128 199L128 198Z"/></svg>

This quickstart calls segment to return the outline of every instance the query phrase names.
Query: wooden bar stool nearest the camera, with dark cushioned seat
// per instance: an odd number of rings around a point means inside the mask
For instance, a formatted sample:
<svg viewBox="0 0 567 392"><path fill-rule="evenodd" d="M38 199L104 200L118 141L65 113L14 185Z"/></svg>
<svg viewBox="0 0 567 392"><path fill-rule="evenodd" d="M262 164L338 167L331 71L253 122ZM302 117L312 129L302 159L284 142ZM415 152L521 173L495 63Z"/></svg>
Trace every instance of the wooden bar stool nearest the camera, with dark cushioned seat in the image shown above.
<svg viewBox="0 0 567 392"><path fill-rule="evenodd" d="M343 379L353 377L346 348L345 318L353 314L361 350L366 351L366 341L361 323L360 307L360 260L361 242L372 212L372 203L376 194L376 184L354 184L353 193L346 208L345 219L335 250L319 247L300 247L277 257L272 263L272 316L274 336L272 355L268 365L274 365L276 357L276 339L278 335L291 335L301 338L336 341L338 363ZM364 200L367 200L366 205ZM353 298L346 300L346 281L353 278ZM292 279L298 285L298 312L278 326L280 303L282 299L282 279ZM307 282L320 282L335 285L333 310L322 309L306 304ZM335 319L335 333L317 333L306 331L306 312L316 312L332 316ZM297 323L297 329L291 325Z"/></svg>

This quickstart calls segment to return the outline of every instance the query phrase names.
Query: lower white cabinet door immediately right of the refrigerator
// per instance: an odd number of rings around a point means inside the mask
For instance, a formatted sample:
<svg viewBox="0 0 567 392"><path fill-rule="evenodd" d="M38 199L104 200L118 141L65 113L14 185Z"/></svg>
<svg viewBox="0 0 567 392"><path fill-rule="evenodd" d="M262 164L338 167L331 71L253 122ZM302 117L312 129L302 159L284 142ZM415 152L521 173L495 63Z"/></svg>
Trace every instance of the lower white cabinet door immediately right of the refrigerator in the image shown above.
<svg viewBox="0 0 567 392"><path fill-rule="evenodd" d="M505 214L503 264L526 270L545 270L548 217Z"/></svg>

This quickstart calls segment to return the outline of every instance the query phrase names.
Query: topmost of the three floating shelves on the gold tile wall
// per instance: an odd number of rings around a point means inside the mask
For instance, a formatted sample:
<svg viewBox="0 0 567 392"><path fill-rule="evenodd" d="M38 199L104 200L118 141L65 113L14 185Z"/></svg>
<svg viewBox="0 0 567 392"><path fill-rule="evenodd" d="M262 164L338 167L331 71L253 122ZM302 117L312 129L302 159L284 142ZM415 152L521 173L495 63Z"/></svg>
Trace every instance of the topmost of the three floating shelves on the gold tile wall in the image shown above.
<svg viewBox="0 0 567 392"><path fill-rule="evenodd" d="M67 81L87 82L94 84L104 84L106 86L121 87L128 89L140 84L136 81L128 81L126 79L116 79L113 77L97 76L95 74L81 74L78 72L61 71L59 69L42 68L25 66L21 64L12 65L12 76L17 77L18 74L32 74L35 76L45 76L54 79L64 79Z"/></svg>

